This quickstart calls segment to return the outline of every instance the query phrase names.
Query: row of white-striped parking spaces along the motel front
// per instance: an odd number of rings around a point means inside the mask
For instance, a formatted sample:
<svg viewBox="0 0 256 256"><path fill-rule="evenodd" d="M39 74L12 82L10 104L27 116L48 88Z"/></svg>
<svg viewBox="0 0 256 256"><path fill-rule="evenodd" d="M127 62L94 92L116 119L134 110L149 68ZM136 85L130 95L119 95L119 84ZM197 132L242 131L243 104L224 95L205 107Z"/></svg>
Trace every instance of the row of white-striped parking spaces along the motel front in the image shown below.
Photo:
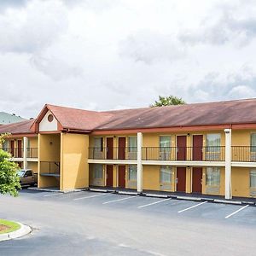
<svg viewBox="0 0 256 256"><path fill-rule="evenodd" d="M93 191L71 193L46 192L30 189L20 191L20 197L33 200L56 201L65 204L107 207L143 214L162 214L178 218L215 219L243 224L256 224L256 207L229 205L209 201L186 201L171 198L156 198L140 195L119 195Z"/></svg>

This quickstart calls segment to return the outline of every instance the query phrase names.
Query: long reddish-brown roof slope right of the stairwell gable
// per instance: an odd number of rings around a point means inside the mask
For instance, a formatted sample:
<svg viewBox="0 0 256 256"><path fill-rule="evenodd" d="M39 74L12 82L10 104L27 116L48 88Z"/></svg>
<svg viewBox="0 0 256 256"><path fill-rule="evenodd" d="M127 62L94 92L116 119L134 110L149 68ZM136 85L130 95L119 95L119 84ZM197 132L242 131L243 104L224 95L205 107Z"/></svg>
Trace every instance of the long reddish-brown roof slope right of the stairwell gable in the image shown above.
<svg viewBox="0 0 256 256"><path fill-rule="evenodd" d="M195 125L256 124L256 99L108 111L113 117L95 130Z"/></svg>

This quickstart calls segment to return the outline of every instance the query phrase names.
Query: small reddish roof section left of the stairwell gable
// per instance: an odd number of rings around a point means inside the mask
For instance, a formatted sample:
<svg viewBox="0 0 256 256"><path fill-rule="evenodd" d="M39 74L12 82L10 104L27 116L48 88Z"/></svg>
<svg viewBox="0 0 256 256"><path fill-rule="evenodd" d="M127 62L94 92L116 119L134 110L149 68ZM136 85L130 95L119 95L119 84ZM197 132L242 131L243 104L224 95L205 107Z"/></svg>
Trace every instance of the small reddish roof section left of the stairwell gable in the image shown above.
<svg viewBox="0 0 256 256"><path fill-rule="evenodd" d="M9 124L9 125L0 125L0 134L2 133L11 133L15 134L32 134L30 127L34 120L26 120L19 123Z"/></svg>

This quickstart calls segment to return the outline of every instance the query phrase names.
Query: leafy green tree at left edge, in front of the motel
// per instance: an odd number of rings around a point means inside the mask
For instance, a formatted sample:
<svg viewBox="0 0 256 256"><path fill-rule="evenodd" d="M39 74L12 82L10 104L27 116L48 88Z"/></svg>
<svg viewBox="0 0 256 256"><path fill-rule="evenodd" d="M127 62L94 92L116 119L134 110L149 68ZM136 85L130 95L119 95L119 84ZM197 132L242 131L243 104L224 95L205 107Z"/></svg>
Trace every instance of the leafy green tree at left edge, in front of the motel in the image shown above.
<svg viewBox="0 0 256 256"><path fill-rule="evenodd" d="M7 134L0 135L1 147L6 137L8 137ZM20 178L17 174L19 166L9 160L10 158L11 154L0 149L0 194L17 196L17 189L20 189Z"/></svg>

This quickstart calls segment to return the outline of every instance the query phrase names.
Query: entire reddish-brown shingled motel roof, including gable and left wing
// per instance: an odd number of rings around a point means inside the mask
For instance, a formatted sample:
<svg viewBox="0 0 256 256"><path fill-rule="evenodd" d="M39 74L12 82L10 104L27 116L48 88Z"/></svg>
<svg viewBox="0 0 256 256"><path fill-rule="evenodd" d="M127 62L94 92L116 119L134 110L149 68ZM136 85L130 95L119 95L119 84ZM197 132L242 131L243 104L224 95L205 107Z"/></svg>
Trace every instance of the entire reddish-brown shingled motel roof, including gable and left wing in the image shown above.
<svg viewBox="0 0 256 256"><path fill-rule="evenodd" d="M111 131L125 129L181 126L256 124L256 99L195 103L156 108L134 108L105 112L88 111L46 104L34 121L0 126L0 133L32 133L50 110L60 123L60 130Z"/></svg>

